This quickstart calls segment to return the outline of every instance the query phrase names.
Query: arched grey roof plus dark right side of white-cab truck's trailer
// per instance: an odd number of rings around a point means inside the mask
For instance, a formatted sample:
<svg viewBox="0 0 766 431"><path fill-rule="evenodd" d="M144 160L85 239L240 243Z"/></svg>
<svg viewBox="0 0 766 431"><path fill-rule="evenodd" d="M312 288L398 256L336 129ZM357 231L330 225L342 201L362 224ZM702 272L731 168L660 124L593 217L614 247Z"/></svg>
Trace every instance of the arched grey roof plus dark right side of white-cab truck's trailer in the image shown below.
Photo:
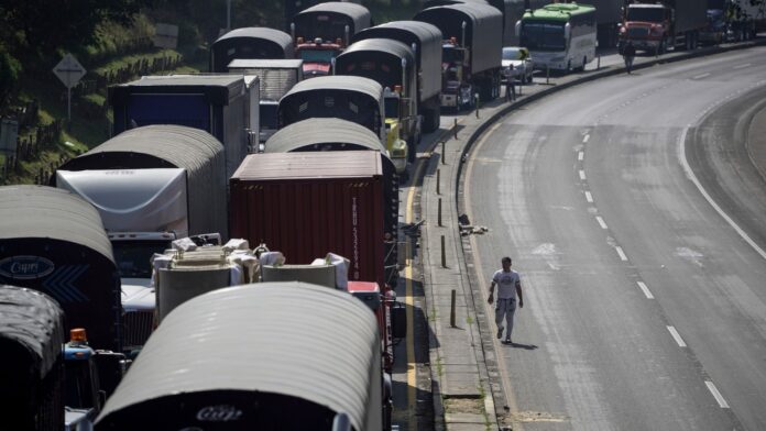
<svg viewBox="0 0 766 431"><path fill-rule="evenodd" d="M211 134L183 125L131 129L59 169L186 169L189 233L220 232L227 236L227 166L223 145ZM111 250L111 247L110 247Z"/></svg>

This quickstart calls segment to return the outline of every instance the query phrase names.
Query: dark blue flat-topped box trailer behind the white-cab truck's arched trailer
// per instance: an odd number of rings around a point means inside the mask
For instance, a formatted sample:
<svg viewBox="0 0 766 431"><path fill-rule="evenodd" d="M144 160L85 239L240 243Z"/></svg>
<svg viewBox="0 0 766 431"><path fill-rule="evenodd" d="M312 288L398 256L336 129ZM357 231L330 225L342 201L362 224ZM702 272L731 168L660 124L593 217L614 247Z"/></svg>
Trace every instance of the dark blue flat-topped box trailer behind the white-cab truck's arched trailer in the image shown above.
<svg viewBox="0 0 766 431"><path fill-rule="evenodd" d="M145 76L109 88L117 135L150 124L201 129L223 144L227 175L231 176L256 145L259 81L254 76Z"/></svg>

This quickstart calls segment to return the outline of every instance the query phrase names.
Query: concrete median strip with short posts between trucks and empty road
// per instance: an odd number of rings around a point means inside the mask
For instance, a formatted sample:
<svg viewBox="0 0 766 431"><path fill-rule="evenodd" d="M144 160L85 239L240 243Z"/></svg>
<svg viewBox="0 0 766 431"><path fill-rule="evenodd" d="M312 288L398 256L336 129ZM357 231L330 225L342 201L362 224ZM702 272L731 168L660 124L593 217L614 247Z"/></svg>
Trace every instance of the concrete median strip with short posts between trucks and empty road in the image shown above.
<svg viewBox="0 0 766 431"><path fill-rule="evenodd" d="M643 57L637 58L633 70L759 45L766 45L766 40L671 53L658 58ZM428 324L433 334L429 338L429 355L437 430L499 429L496 418L506 417L508 413L504 410L504 406L507 406L505 390L508 388L495 382L499 367L502 366L499 365L502 357L493 347L493 319L484 312L483 296L478 290L479 284L472 281L475 277L486 275L481 274L481 268L474 265L470 241L468 236L460 235L458 223L458 214L464 212L461 175L469 152L491 126L496 128L495 123L511 111L576 85L624 71L624 67L604 66L599 70L558 78L552 86L525 88L524 96L512 103L497 99L483 104L478 115L474 112L466 113L459 121L456 120L452 128L442 131L433 140L430 147L426 150L429 157L423 169L420 218L430 222L424 225L420 251L428 301L426 309L429 314L435 314L428 317ZM457 128L459 133L456 133ZM583 142L587 142L588 137L583 137ZM440 176L438 185L437 168ZM581 179L584 180L584 175L581 175ZM417 183L417 178L414 178L414 183ZM445 203L441 211L442 226L436 222L439 218L439 197ZM597 220L606 229L600 217ZM442 262L447 263L446 267L442 267ZM455 328L450 325L452 290L457 291ZM514 430L521 429L521 422L513 422Z"/></svg>

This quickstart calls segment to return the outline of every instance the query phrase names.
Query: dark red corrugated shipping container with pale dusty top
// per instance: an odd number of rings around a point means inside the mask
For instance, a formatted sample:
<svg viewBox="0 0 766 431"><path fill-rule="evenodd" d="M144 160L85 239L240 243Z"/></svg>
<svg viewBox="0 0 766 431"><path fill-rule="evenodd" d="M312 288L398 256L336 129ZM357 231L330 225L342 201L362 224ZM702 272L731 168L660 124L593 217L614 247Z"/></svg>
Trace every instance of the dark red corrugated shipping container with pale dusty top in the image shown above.
<svg viewBox="0 0 766 431"><path fill-rule="evenodd" d="M332 252L349 280L384 280L383 167L371 151L245 157L230 181L231 237L265 243L292 264Z"/></svg>

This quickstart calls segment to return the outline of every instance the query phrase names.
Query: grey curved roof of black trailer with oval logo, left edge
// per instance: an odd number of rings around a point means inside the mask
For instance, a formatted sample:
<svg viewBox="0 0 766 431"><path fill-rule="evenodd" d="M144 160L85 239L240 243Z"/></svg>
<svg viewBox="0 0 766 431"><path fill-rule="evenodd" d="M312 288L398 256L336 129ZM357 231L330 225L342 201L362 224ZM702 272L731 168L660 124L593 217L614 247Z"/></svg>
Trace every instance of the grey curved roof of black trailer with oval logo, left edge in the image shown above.
<svg viewBox="0 0 766 431"><path fill-rule="evenodd" d="M96 208L66 190L47 186L0 187L0 240L59 240L79 244L114 262Z"/></svg>

